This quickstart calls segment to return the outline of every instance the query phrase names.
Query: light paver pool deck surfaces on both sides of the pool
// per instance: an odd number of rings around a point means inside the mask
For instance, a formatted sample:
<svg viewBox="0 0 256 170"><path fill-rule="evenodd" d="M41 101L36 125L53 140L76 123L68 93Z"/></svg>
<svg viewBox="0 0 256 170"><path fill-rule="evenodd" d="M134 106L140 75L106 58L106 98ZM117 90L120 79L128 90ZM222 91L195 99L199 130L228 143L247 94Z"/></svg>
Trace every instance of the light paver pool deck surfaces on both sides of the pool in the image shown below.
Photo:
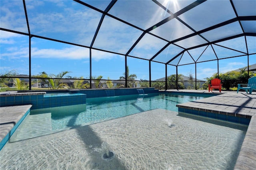
<svg viewBox="0 0 256 170"><path fill-rule="evenodd" d="M168 90L180 93L209 93L207 90ZM236 117L250 118L251 121L234 167L235 170L256 170L256 92L251 95L244 91L213 91L220 95L200 99L193 102L177 105L186 109L202 110L217 114L226 114ZM31 107L12 106L0 107L0 141L12 130L12 127L21 119L22 115ZM10 126L7 126L10 123ZM2 129L4 128L4 130Z"/></svg>

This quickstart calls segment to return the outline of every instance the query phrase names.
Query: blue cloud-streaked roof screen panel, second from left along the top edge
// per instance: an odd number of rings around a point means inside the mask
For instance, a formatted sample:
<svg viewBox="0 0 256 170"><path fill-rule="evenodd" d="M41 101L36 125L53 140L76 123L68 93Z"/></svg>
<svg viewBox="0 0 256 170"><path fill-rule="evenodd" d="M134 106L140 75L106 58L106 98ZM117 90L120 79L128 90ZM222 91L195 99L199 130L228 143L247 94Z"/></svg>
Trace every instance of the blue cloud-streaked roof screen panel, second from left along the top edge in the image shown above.
<svg viewBox="0 0 256 170"><path fill-rule="evenodd" d="M44 1L44 5L33 5L28 10L31 34L90 46L102 14L78 3L70 8L72 4Z"/></svg>

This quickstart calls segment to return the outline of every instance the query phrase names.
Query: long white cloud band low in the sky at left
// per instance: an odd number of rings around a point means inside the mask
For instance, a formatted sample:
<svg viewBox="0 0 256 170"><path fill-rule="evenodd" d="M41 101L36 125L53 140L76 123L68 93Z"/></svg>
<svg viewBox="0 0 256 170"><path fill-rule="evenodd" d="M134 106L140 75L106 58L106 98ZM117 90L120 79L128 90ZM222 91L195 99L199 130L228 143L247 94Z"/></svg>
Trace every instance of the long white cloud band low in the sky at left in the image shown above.
<svg viewBox="0 0 256 170"><path fill-rule="evenodd" d="M15 37L17 34L12 34L9 32L4 32L7 34L2 34L4 37ZM37 39L36 39L37 40ZM38 39L39 40L39 39ZM1 39L1 43L4 44L11 44L20 42L17 38L9 38L9 39ZM43 47L47 45L47 41L39 41L38 44L35 43L36 41L32 41L34 47L31 48L31 56L32 58L61 58L61 59L89 59L90 58L90 51L88 48L85 47L78 47L78 46L68 46L59 48L57 45L53 48L51 45L49 47ZM53 43L55 44L55 43ZM104 51L92 50L92 59L98 61L100 59L111 59L116 57L116 54L107 53ZM29 57L29 48L28 44L19 43L17 45L6 46L1 49L1 60L11 60L11 59L21 59L21 58L28 58Z"/></svg>

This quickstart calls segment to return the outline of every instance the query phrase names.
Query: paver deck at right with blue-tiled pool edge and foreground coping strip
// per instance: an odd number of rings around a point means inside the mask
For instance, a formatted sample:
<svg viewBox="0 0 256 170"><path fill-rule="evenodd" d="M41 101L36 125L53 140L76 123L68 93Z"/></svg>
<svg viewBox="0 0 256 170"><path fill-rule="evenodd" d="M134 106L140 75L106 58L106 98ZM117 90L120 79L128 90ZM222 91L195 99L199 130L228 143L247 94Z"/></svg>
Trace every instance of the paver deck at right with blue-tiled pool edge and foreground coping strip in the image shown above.
<svg viewBox="0 0 256 170"><path fill-rule="evenodd" d="M211 118L230 117L236 123L248 119L248 129L235 170L256 168L256 94L226 92L220 95L176 105L179 111ZM232 118L233 117L233 118ZM222 119L223 120L223 119ZM230 120L231 121L231 120ZM238 121L238 122L237 122ZM244 123L244 121L243 121Z"/></svg>

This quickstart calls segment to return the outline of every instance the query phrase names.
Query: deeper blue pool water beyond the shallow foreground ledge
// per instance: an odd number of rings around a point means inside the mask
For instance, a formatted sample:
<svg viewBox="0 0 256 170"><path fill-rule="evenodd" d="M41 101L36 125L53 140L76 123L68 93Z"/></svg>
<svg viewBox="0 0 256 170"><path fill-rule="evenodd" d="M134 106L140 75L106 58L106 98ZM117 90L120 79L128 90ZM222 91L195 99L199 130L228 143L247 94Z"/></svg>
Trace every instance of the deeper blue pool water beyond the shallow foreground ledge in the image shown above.
<svg viewBox="0 0 256 170"><path fill-rule="evenodd" d="M10 141L14 142L73 127L91 125L152 109L178 111L177 104L205 97L152 93L89 98L86 99L86 105L35 109L30 111L30 115L18 127Z"/></svg>

